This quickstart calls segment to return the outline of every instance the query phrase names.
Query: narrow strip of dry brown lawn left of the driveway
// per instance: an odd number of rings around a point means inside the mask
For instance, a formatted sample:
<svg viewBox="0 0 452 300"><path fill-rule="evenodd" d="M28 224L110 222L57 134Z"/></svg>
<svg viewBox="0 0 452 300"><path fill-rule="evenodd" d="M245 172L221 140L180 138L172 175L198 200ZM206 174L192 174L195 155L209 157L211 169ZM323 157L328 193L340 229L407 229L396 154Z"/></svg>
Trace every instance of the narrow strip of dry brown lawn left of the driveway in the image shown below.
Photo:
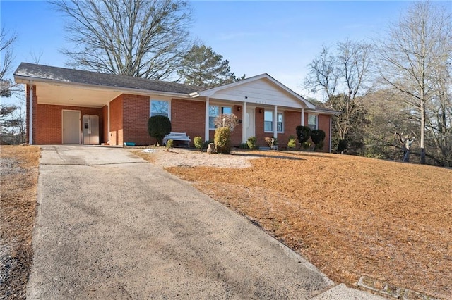
<svg viewBox="0 0 452 300"><path fill-rule="evenodd" d="M23 299L32 263L36 146L0 146L0 298Z"/></svg>

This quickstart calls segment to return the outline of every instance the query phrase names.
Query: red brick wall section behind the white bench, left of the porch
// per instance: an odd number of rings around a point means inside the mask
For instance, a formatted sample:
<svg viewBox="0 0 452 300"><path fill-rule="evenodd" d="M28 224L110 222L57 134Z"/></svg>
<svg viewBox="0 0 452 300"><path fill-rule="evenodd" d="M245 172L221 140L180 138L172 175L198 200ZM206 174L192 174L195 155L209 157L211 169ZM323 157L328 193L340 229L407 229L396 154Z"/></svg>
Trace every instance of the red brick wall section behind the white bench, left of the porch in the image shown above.
<svg viewBox="0 0 452 300"><path fill-rule="evenodd" d="M173 132L186 132L191 146L196 136L204 137L206 102L186 99L171 100L171 127Z"/></svg>

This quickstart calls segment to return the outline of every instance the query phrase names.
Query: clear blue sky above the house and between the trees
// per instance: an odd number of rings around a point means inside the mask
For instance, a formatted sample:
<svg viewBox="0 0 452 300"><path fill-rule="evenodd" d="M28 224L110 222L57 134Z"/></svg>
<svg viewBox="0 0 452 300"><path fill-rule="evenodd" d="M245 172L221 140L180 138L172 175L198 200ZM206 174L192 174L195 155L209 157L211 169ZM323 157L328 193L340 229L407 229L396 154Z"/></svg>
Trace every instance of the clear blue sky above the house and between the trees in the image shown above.
<svg viewBox="0 0 452 300"><path fill-rule="evenodd" d="M370 41L396 22L408 1L193 1L191 33L246 77L268 73L290 89L302 88L307 65L322 45L349 38ZM45 1L0 2L0 22L18 35L15 67L33 62L64 67L69 46L64 20Z"/></svg>

